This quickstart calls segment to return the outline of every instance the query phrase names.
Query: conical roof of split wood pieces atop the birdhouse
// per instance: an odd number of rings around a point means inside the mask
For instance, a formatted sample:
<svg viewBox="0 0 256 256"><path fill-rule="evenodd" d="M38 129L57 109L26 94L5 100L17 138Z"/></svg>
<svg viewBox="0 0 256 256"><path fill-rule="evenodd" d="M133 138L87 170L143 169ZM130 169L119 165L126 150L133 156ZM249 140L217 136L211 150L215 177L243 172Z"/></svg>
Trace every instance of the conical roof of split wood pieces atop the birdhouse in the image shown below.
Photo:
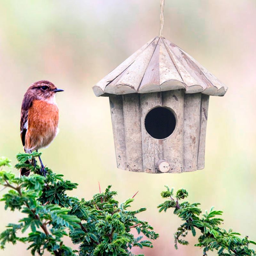
<svg viewBox="0 0 256 256"><path fill-rule="evenodd" d="M157 36L92 89L96 96L177 89L223 96L228 87L177 45Z"/></svg>

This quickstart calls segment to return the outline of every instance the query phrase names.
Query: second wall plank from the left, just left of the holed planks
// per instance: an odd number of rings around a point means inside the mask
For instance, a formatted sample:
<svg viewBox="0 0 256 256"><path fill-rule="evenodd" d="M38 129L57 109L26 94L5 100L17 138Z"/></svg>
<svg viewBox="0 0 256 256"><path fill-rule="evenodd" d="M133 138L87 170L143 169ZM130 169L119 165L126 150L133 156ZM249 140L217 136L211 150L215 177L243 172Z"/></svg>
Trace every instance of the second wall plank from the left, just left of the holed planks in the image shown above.
<svg viewBox="0 0 256 256"><path fill-rule="evenodd" d="M140 124L140 95L123 95L126 169L143 172Z"/></svg>

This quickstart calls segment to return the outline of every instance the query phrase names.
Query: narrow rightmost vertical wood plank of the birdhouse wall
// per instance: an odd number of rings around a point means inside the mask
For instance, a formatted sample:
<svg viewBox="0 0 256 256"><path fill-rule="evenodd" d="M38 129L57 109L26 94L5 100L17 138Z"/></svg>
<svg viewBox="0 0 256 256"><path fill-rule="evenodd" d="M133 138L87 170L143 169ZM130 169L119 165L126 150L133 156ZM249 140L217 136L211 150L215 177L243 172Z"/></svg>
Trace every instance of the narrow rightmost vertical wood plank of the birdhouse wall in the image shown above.
<svg viewBox="0 0 256 256"><path fill-rule="evenodd" d="M200 110L200 136L197 156L197 170L204 169L206 125L208 118L209 95L202 94Z"/></svg>

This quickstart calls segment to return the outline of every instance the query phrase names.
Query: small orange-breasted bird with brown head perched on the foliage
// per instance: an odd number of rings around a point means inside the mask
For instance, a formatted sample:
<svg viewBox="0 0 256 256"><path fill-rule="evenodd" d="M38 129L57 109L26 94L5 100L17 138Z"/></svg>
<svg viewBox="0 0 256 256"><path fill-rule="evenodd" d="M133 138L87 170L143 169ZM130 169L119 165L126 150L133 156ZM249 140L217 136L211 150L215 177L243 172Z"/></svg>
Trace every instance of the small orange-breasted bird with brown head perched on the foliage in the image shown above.
<svg viewBox="0 0 256 256"><path fill-rule="evenodd" d="M20 138L26 153L49 146L58 134L59 109L55 95L63 91L47 80L37 81L28 87L20 114ZM40 174L46 176L45 166L40 156L38 158L41 164ZM30 170L26 168L20 170L20 175L28 176L29 173Z"/></svg>

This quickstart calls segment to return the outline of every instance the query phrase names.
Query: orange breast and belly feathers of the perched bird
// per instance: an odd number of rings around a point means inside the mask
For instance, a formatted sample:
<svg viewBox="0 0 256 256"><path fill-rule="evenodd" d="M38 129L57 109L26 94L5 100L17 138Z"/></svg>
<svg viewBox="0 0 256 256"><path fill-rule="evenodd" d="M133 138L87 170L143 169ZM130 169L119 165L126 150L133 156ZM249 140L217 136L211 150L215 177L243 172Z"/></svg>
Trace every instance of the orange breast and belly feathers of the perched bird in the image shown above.
<svg viewBox="0 0 256 256"><path fill-rule="evenodd" d="M34 100L28 110L25 149L31 151L48 146L57 134L59 109L44 100Z"/></svg>

